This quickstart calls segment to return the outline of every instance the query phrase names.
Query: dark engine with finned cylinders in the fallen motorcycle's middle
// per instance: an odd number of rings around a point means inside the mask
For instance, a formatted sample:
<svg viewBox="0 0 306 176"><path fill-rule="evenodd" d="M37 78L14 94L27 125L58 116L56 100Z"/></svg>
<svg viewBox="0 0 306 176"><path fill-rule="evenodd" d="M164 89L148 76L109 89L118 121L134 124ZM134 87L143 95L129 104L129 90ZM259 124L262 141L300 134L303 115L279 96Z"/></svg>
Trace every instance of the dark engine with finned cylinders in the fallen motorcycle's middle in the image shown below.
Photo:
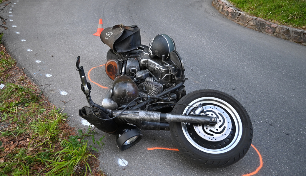
<svg viewBox="0 0 306 176"><path fill-rule="evenodd" d="M118 59L121 73L115 77L113 87L103 99L103 107L117 109L139 96L156 96L165 89L187 80L184 65L177 51L170 52L168 59L150 58L148 48L139 54L130 55L128 59ZM181 99L186 95L185 88L180 88L171 100Z"/></svg>

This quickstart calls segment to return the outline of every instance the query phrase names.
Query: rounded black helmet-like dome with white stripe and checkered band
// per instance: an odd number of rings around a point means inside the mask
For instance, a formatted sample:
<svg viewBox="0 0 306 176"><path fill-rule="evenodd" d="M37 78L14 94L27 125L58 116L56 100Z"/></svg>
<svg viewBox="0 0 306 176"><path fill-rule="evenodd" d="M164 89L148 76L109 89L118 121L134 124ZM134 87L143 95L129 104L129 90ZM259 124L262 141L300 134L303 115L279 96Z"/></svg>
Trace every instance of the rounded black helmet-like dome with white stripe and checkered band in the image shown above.
<svg viewBox="0 0 306 176"><path fill-rule="evenodd" d="M166 34L158 34L149 44L149 56L151 58L158 56L162 58L162 55L165 55L167 59L170 55L170 52L175 50L175 43L171 37Z"/></svg>

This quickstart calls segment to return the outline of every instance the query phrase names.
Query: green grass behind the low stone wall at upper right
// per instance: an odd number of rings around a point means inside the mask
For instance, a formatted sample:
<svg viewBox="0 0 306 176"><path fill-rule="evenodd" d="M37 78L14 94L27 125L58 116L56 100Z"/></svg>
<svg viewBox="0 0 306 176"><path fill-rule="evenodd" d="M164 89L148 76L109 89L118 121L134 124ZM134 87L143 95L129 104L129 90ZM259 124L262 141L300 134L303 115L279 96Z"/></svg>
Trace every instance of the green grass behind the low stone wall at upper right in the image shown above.
<svg viewBox="0 0 306 176"><path fill-rule="evenodd" d="M306 29L306 0L229 0L241 11L280 25Z"/></svg>

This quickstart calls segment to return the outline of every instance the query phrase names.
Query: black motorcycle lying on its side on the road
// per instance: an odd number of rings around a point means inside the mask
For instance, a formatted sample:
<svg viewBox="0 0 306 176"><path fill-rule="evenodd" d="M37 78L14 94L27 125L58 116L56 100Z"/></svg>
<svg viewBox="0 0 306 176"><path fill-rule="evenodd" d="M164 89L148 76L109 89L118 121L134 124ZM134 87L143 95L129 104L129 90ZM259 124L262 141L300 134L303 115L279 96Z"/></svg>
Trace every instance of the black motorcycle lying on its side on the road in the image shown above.
<svg viewBox="0 0 306 176"><path fill-rule="evenodd" d="M141 45L137 25L116 25L101 32L110 47L105 64L112 87L102 106L91 99L80 56L76 67L89 106L79 110L101 131L116 135L123 151L143 137L141 130L170 130L178 150L203 167L226 167L240 160L252 142L252 123L244 107L218 90L186 94L184 64L172 38L156 35Z"/></svg>

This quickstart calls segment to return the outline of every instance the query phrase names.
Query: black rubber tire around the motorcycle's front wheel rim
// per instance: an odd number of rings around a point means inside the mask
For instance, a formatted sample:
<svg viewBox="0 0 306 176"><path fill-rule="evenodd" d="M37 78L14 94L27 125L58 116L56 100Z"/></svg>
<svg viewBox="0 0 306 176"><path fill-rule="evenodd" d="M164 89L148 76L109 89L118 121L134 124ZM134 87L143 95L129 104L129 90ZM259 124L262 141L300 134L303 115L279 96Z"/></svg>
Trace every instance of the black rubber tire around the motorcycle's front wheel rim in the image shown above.
<svg viewBox="0 0 306 176"><path fill-rule="evenodd" d="M235 103L237 103L237 105L242 109L242 111L244 112L245 115L245 120L247 121L247 125L245 125L242 129L243 131L248 131L247 134L242 134L241 139L243 138L243 136L246 135L246 137L244 137L244 143L241 146L241 142L239 142L237 144L240 145L239 147L239 151L234 151L233 150L237 150L237 146L226 152L226 153L221 153L221 154L209 154L209 153L205 153L203 151L200 151L198 149L196 149L194 146L192 146L188 140L186 139L185 135L182 133L182 126L181 126L181 122L170 122L170 134L172 136L172 138L174 139L174 144L177 146L178 150L190 161L192 161L193 163L200 165L202 167L208 167L208 168L218 168L218 167L227 167L230 166L234 163L236 163L237 161L239 161L247 152L248 149L251 146L252 143L252 137L253 137L253 128L252 128L252 123L251 123L251 119L247 113L247 111L245 110L245 108L240 104L240 102L238 102L236 99L234 99L232 96L221 92L221 91L217 91L217 90L211 90L211 89L202 89L202 90L197 90L194 92L190 92L187 95L185 95L184 97L182 97L178 103L182 103L182 104L188 104L185 101L187 101L190 96L195 95L195 94L201 94L203 92L213 92L213 93L218 93L221 95L225 95L228 98L230 98L232 101L234 101ZM213 96L211 96L213 97ZM218 97L217 97L218 98ZM191 101L193 101L194 99L192 99ZM190 101L190 102L191 102ZM184 103L185 102L185 103ZM178 112L182 109L182 105L176 105L174 106L174 109L172 111L172 114L179 114ZM185 109L185 107L183 108ZM181 131L180 131L181 129ZM229 153L235 153L234 155L231 155L229 157Z"/></svg>

